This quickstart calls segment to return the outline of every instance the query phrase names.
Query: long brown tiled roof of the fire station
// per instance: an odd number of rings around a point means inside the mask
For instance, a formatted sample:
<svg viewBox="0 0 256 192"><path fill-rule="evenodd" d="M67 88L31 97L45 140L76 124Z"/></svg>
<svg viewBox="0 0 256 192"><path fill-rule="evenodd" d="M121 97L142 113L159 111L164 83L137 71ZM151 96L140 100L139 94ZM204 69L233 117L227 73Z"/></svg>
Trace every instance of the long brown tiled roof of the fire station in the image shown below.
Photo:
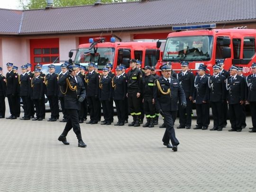
<svg viewBox="0 0 256 192"><path fill-rule="evenodd" d="M256 20L252 0L147 0L33 10L0 9L0 34L86 33Z"/></svg>

